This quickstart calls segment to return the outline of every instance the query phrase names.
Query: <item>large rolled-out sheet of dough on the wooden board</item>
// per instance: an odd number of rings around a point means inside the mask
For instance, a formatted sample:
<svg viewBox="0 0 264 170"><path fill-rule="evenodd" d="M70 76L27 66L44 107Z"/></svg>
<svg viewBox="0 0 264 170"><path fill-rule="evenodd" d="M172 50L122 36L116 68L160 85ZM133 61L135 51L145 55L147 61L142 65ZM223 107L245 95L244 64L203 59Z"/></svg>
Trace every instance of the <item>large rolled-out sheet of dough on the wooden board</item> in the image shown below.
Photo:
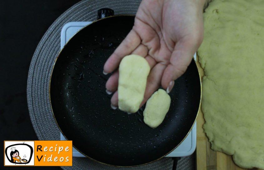
<svg viewBox="0 0 264 170"><path fill-rule="evenodd" d="M264 1L215 0L198 55L204 129L213 150L264 169Z"/></svg>

